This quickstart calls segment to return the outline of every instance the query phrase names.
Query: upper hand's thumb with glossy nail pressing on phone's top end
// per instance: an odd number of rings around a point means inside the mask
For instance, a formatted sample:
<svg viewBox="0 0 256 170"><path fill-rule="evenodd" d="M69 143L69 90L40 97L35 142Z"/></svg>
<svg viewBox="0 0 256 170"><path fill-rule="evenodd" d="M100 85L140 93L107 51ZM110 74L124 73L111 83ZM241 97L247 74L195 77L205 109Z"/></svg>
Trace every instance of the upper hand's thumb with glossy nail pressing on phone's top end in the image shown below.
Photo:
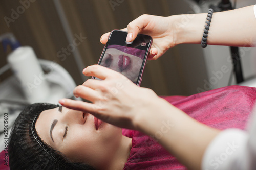
<svg viewBox="0 0 256 170"><path fill-rule="evenodd" d="M141 15L127 25L127 42L135 40L139 31L143 29L148 24L148 22L150 22L148 16L149 15Z"/></svg>

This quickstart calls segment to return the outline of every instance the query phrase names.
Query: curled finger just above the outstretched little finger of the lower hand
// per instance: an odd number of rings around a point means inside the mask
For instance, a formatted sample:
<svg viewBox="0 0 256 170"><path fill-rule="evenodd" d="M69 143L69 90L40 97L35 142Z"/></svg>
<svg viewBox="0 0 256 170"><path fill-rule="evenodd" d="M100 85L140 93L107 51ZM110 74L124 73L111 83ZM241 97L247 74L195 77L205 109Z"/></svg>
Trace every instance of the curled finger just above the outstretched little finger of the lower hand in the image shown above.
<svg viewBox="0 0 256 170"><path fill-rule="evenodd" d="M86 99L91 102L95 102L96 100L99 100L101 96L98 91L95 91L94 89L91 89L83 85L77 86L74 89L73 93L74 93L74 96L76 96L77 98L80 97L82 99Z"/></svg>

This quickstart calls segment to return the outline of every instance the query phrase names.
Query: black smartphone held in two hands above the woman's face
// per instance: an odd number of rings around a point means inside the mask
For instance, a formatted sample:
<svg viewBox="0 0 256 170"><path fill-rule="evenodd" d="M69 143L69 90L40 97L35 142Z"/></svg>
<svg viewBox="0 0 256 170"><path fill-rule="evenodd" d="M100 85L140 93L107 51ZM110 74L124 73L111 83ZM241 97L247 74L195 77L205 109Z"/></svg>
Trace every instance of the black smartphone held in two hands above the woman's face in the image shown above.
<svg viewBox="0 0 256 170"><path fill-rule="evenodd" d="M152 44L148 35L138 34L132 43L126 43L127 32L113 30L100 56L99 65L121 72L140 86L147 56ZM93 79L98 79L93 77Z"/></svg>

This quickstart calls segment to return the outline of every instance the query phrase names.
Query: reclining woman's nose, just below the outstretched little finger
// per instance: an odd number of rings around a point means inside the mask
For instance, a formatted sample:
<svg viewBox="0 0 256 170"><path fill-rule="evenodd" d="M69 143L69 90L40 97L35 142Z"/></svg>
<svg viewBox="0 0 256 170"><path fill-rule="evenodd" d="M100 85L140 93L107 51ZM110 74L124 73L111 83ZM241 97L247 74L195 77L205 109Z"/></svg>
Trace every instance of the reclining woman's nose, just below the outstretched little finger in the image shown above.
<svg viewBox="0 0 256 170"><path fill-rule="evenodd" d="M86 118L86 114L82 111L68 109L66 107L62 108L61 114L61 122L66 122L69 124L82 124L84 123L84 119Z"/></svg>

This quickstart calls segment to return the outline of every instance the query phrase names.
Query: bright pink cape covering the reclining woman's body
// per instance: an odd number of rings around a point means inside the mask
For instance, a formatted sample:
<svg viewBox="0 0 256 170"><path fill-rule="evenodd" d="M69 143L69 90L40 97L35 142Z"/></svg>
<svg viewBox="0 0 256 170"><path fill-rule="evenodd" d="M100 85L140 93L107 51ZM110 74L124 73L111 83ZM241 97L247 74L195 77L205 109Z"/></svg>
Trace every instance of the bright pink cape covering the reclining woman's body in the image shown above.
<svg viewBox="0 0 256 170"><path fill-rule="evenodd" d="M245 129L256 100L256 88L228 86L188 97L166 96L163 98L210 127L221 130ZM151 137L127 129L123 129L123 135L133 138L125 170L186 169Z"/></svg>

